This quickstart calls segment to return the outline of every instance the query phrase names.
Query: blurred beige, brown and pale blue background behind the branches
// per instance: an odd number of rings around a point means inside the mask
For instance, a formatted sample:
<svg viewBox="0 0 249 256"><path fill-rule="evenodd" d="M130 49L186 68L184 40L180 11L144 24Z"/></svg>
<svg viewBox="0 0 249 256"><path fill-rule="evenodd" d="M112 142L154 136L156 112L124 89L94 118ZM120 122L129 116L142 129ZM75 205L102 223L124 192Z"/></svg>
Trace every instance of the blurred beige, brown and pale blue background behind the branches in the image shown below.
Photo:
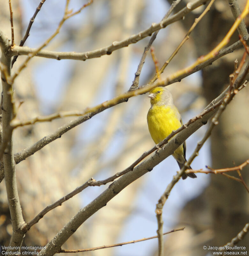
<svg viewBox="0 0 249 256"><path fill-rule="evenodd" d="M15 43L25 34L29 19L40 1L12 0ZM72 0L77 10L86 1ZM8 2L1 3L0 29L11 38ZM46 1L38 13L25 46L38 47L57 28L64 12L64 1ZM79 15L66 21L60 34L46 47L52 51L86 52L110 45L159 22L170 7L164 0L98 0ZM243 10L245 1L240 1ZM182 1L175 11L186 5ZM175 50L204 6L183 21L162 29L153 44L161 66ZM216 0L189 40L162 74L166 78L207 54L224 37L234 19L227 1ZM247 21L246 21L247 23ZM238 40L238 32L230 43ZM58 111L84 110L127 91L132 85L144 47L149 38L114 51L111 55L85 62L35 57L15 83L18 118L30 119ZM183 122L196 116L229 84L234 60L243 49L224 56L211 66L169 86ZM19 56L15 71L26 59ZM144 85L154 76L155 66L148 54L140 76ZM241 164L249 155L248 88L227 107L210 140L193 161L193 169L226 168ZM144 151L154 146L146 115L147 95L129 99L73 128L60 139L42 148L16 166L19 198L25 221L31 220L48 204L82 185L88 178L99 180L127 168ZM73 118L36 123L14 131L15 153L33 145ZM187 140L187 158L204 135L208 125ZM106 207L90 217L62 249L84 249L156 235L155 205L178 170L172 156L153 171L125 188ZM242 171L249 184L248 166ZM237 173L234 173L236 177ZM197 174L197 179L180 180L164 206L164 232L185 227L165 236L165 255L211 255L203 245L222 246L248 222L248 193L242 184L221 175ZM8 245L11 221L4 181L0 184L0 244ZM23 245L44 246L74 216L109 184L86 190L50 211L33 226ZM238 244L249 246L249 237ZM247 247L249 248L249 247ZM157 255L157 239L109 248L84 255Z"/></svg>

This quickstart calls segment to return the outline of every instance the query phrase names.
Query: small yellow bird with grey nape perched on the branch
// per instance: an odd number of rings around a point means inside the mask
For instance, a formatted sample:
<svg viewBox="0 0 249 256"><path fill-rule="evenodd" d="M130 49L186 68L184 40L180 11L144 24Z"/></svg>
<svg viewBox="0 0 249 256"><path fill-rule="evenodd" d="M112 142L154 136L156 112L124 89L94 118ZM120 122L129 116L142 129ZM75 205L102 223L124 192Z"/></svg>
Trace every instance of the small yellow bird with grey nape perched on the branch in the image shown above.
<svg viewBox="0 0 249 256"><path fill-rule="evenodd" d="M182 119L168 89L156 87L150 91L148 97L151 103L147 114L148 128L155 144L158 144L173 130L182 126ZM181 169L186 162L186 142L180 145L172 155ZM190 166L188 168L192 169ZM184 173L182 178L185 179L187 176L196 178L194 173Z"/></svg>

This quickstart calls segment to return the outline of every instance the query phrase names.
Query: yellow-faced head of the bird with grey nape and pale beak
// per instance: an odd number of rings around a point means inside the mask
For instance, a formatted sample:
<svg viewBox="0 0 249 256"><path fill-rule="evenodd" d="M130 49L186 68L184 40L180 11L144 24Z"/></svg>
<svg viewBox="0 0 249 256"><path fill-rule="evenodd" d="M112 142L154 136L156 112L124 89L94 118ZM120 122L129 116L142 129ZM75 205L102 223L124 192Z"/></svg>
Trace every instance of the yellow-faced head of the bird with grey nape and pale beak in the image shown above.
<svg viewBox="0 0 249 256"><path fill-rule="evenodd" d="M165 87L155 87L150 92L148 97L150 98L151 105L171 105L173 104L173 98L168 89Z"/></svg>

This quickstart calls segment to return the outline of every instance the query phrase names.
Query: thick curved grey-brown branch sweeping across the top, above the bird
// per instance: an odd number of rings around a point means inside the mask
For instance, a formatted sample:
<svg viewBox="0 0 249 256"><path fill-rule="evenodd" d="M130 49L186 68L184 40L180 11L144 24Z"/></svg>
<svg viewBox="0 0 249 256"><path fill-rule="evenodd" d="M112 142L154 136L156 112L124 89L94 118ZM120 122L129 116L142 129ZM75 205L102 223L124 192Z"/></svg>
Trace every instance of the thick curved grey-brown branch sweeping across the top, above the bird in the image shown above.
<svg viewBox="0 0 249 256"><path fill-rule="evenodd" d="M206 0L197 0L194 3L189 3L185 8L181 11L177 12L175 15L172 15L170 18L161 21L160 23L153 23L148 29L145 29L138 34L132 35L131 37L122 40L122 41L115 41L111 45L103 47L101 49L97 49L94 51L89 51L85 53L75 53L75 52L52 52L47 50L40 50L40 49L32 49L29 47L20 47L15 46L11 48L11 55L29 55L32 54L38 57L62 60L62 59L70 59L70 60L81 60L85 61L87 59L98 58L103 55L109 55L113 51L116 51L120 48L126 47L130 44L135 44L138 41L142 40L145 37L150 36L153 32L165 28L169 24L181 20L186 14L191 12L192 10L196 9L200 5L206 3Z"/></svg>

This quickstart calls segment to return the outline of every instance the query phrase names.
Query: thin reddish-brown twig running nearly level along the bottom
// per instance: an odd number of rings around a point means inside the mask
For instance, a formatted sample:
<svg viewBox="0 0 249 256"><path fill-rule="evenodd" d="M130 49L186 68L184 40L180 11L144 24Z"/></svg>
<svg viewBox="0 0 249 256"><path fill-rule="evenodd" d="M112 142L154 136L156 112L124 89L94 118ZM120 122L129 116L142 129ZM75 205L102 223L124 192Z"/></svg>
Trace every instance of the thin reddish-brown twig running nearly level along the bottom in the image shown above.
<svg viewBox="0 0 249 256"><path fill-rule="evenodd" d="M182 228L178 228L178 229L173 229L169 232L166 232L166 233L163 233L163 235L167 235L167 234L170 234L170 233L173 233L173 232L176 232L176 231L181 231L181 230L184 230L185 227L182 227ZM147 238L142 238L142 239L138 239L138 240L133 240L133 241L130 241L130 242L124 242L124 243L119 243L119 244L111 244L111 245L103 245L103 246L98 246L98 247L93 247L93 248L87 248L87 249L79 249L79 250L63 250L61 249L59 251L59 253L69 253L69 252L89 252L89 251L95 251L95 250L99 250L99 249L105 249L105 248L111 248L111 247L116 247L116 246L122 246L122 245L125 245L125 244L135 244L135 243L138 243L138 242L142 242L142 241L146 241L146 240L150 240L150 239L154 239L154 238L157 238L157 235L155 236L151 236L151 237L147 237Z"/></svg>

